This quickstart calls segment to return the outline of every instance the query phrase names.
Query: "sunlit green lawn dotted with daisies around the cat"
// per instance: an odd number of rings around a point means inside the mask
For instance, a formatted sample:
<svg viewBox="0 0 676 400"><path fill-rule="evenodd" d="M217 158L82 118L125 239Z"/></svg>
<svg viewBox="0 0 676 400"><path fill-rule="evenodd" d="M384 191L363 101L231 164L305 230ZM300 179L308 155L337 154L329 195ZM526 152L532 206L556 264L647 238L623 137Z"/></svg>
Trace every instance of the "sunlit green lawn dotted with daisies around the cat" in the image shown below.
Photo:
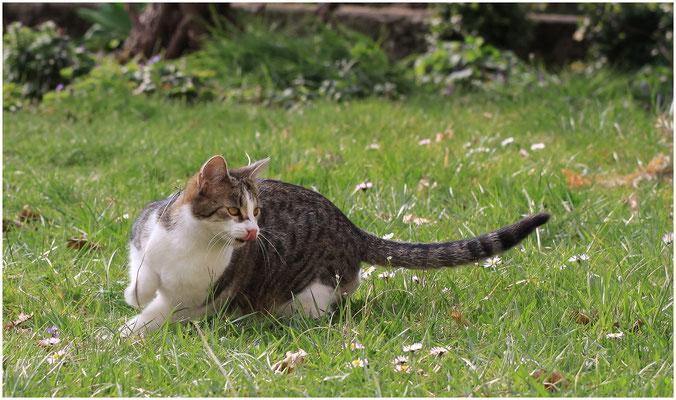
<svg viewBox="0 0 676 400"><path fill-rule="evenodd" d="M3 323L34 313L4 332L3 394L671 397L673 245L661 239L673 231L673 186L570 186L562 174L629 174L672 152L656 113L624 87L621 77L569 78L532 92L315 103L302 114L100 93L5 113L4 218L27 204L42 220L3 234ZM452 138L435 142L449 129ZM425 138L432 143L418 145ZM372 143L380 148L366 149ZM553 217L495 269L383 279L379 268L320 320L198 321L233 383L225 388L193 325L143 341L115 333L135 313L122 295L133 218L208 157L238 166L245 152L272 157L268 177L313 188L398 240L459 239L543 209ZM437 186L418 189L423 177ZM373 188L352 194L364 181ZM405 214L432 222L405 223ZM66 247L84 233L101 250ZM569 262L576 254L589 260ZM576 323L575 311L591 323ZM62 342L37 346L52 325ZM345 348L356 342L365 348ZM402 346L416 342L411 369L424 373L395 371ZM435 358L433 346L451 351ZM270 370L299 348L309 354L293 373ZM59 350L62 361L48 363ZM358 358L367 368L348 367ZM556 369L567 386L545 390L529 376L537 369Z"/></svg>

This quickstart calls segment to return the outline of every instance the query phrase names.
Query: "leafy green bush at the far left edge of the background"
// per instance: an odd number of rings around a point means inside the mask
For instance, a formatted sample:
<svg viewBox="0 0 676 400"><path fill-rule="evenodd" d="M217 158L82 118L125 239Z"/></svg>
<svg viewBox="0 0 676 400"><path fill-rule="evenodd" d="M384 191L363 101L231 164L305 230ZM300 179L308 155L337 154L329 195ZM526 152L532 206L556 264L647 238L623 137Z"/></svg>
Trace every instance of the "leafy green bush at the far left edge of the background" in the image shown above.
<svg viewBox="0 0 676 400"><path fill-rule="evenodd" d="M41 99L44 93L71 82L94 65L85 49L75 47L51 21L37 30L12 23L3 36L3 45L5 80L21 85L22 94L29 99Z"/></svg>

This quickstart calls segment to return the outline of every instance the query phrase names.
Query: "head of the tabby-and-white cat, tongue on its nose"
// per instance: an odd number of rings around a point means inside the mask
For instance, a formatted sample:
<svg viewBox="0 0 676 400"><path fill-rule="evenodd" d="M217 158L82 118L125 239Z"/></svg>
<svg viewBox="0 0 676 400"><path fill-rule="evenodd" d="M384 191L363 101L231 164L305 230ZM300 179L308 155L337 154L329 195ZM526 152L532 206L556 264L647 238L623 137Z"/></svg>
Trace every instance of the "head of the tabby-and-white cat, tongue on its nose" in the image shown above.
<svg viewBox="0 0 676 400"><path fill-rule="evenodd" d="M258 206L258 175L269 162L266 158L228 171L225 158L211 157L186 187L192 216L235 247L255 241L264 212Z"/></svg>

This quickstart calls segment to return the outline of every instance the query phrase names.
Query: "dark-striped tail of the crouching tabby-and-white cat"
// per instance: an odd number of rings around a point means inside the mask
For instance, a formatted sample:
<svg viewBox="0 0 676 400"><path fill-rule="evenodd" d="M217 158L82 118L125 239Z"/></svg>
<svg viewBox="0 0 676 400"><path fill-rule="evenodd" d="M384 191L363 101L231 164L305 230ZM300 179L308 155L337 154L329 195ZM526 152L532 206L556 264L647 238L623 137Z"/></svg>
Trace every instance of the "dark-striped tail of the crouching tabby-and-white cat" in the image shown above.
<svg viewBox="0 0 676 400"><path fill-rule="evenodd" d="M535 228L549 221L549 217L548 212L539 212L497 231L455 242L401 243L362 231L362 261L412 269L468 264L516 246Z"/></svg>

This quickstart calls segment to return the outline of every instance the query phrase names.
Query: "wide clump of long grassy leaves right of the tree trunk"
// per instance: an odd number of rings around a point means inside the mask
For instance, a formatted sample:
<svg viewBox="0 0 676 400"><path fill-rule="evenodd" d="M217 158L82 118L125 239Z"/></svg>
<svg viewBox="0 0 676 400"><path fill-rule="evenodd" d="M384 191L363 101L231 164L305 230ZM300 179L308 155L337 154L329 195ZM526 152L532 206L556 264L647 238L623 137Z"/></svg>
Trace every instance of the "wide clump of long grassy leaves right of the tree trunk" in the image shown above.
<svg viewBox="0 0 676 400"><path fill-rule="evenodd" d="M312 24L311 33L295 37L257 22L241 32L224 26L192 60L215 72L226 97L250 93L273 102L304 102L397 96L407 90L404 74L378 43L347 29L334 32Z"/></svg>

